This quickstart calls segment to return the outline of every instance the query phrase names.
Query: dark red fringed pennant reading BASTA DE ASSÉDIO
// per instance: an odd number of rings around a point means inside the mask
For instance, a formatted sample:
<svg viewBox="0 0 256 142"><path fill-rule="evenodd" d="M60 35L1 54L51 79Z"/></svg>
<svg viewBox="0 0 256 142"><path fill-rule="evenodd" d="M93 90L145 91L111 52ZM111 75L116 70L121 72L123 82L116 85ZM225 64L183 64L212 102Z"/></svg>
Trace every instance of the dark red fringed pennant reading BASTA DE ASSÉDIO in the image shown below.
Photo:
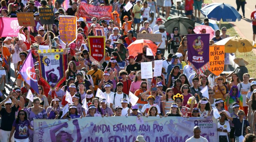
<svg viewBox="0 0 256 142"><path fill-rule="evenodd" d="M90 56L100 62L105 57L106 36L88 36Z"/></svg>

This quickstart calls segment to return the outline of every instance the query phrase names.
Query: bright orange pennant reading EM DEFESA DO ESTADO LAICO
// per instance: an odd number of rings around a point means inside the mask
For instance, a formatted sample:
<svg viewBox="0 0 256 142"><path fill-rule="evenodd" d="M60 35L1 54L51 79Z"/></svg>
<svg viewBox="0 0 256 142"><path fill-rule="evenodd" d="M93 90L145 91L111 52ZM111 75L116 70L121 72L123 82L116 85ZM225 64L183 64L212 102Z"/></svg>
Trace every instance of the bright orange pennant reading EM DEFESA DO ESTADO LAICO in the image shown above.
<svg viewBox="0 0 256 142"><path fill-rule="evenodd" d="M225 46L213 45L209 49L209 64L211 71L214 75L219 76L224 71L225 64Z"/></svg>

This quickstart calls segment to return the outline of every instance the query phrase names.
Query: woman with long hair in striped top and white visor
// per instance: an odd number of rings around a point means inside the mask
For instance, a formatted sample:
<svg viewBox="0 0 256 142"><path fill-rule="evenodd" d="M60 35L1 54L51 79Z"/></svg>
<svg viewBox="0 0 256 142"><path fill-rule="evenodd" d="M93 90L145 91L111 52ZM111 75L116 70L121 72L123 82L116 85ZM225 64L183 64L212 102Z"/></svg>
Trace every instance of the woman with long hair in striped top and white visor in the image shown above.
<svg viewBox="0 0 256 142"><path fill-rule="evenodd" d="M163 104L162 104L163 115L170 112L171 105L172 103L174 103L172 88L167 88L165 95L166 95L166 99L163 101Z"/></svg>

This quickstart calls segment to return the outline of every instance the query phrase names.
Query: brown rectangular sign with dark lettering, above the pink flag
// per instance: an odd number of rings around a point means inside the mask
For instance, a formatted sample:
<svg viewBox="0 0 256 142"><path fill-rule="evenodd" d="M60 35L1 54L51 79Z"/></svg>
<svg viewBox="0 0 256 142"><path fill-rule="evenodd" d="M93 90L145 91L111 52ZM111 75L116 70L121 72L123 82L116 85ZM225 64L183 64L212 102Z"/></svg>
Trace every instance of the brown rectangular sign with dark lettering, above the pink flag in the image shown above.
<svg viewBox="0 0 256 142"><path fill-rule="evenodd" d="M16 13L20 26L36 26L33 12Z"/></svg>

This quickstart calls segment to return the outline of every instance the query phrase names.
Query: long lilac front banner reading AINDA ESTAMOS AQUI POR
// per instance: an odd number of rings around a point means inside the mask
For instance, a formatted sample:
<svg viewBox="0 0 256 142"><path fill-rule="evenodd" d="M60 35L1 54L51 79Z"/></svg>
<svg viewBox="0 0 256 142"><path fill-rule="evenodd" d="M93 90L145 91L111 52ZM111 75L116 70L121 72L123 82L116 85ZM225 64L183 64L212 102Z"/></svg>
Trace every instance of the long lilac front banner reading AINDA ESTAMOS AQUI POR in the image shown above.
<svg viewBox="0 0 256 142"><path fill-rule="evenodd" d="M209 142L218 142L217 119L203 117L136 116L83 117L68 120L34 119L35 142L134 142L143 135L147 142L185 142L193 137L193 128Z"/></svg>

